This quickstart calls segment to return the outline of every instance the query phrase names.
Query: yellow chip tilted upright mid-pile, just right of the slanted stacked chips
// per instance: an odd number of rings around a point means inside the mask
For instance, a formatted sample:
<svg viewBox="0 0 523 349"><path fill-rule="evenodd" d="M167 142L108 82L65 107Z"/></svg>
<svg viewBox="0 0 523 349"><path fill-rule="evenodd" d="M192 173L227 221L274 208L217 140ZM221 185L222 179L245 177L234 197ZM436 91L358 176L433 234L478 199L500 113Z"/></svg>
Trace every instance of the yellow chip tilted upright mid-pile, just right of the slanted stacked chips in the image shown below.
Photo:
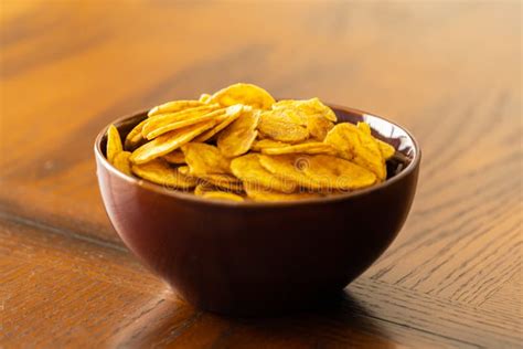
<svg viewBox="0 0 523 349"><path fill-rule="evenodd" d="M244 110L242 115L227 128L220 133L217 147L226 157L237 157L250 149L256 139L256 126L259 121L259 113Z"/></svg>

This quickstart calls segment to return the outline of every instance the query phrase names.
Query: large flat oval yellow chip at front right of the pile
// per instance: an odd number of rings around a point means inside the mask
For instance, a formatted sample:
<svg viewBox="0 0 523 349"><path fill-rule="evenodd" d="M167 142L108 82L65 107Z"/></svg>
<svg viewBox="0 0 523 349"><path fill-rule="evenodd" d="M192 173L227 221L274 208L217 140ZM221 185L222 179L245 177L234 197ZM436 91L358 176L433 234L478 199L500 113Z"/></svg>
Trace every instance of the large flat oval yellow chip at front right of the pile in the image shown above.
<svg viewBox="0 0 523 349"><path fill-rule="evenodd" d="M376 176L351 161L333 156L317 155L308 159L303 173L322 189L353 190L365 188L376 182Z"/></svg>

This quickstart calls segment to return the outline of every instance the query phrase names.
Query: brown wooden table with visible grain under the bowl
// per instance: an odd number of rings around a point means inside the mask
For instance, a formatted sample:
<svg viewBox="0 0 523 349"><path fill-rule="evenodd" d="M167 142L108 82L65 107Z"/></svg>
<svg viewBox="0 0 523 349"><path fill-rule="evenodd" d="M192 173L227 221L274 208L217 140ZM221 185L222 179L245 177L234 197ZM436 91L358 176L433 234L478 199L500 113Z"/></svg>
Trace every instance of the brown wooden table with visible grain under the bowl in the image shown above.
<svg viewBox="0 0 523 349"><path fill-rule="evenodd" d="M0 347L517 347L519 1L0 1ZM199 311L130 255L93 141L234 82L387 116L424 151L409 219L341 306Z"/></svg>

